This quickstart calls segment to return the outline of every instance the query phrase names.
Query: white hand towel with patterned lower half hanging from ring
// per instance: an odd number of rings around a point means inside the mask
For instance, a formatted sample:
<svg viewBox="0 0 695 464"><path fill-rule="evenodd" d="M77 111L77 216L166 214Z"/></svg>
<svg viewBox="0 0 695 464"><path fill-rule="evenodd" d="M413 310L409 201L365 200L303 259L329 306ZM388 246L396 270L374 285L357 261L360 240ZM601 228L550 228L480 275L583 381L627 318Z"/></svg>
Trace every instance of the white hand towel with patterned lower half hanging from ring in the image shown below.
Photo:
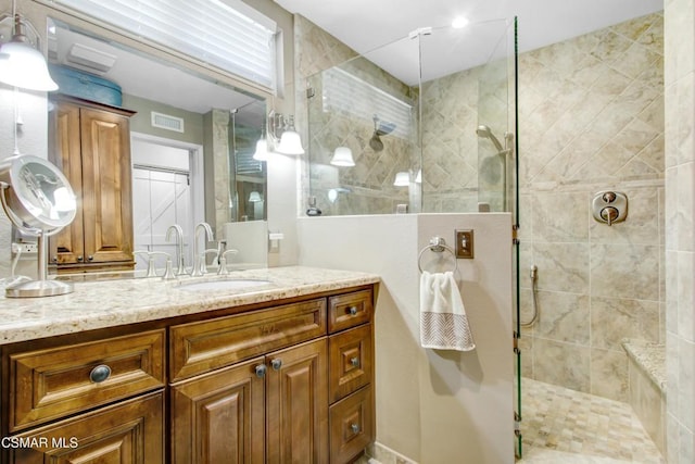
<svg viewBox="0 0 695 464"><path fill-rule="evenodd" d="M420 344L437 350L476 348L454 273L420 276Z"/></svg>

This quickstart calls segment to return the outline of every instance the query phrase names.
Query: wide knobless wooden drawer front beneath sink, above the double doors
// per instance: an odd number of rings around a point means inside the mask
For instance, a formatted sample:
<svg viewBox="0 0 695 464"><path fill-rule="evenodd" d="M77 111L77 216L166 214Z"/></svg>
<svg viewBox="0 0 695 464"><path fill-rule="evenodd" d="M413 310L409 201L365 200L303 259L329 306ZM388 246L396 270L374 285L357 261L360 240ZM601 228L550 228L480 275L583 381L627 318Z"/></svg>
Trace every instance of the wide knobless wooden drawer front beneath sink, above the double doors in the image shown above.
<svg viewBox="0 0 695 464"><path fill-rule="evenodd" d="M172 380L180 380L326 335L326 299L170 329Z"/></svg>

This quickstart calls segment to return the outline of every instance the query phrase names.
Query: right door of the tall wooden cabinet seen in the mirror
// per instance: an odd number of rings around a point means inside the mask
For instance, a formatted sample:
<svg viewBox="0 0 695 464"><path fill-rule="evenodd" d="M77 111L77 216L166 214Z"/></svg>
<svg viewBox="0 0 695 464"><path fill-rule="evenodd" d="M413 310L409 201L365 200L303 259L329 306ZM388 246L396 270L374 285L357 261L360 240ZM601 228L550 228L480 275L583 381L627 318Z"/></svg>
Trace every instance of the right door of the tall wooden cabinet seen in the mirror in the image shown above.
<svg viewBox="0 0 695 464"><path fill-rule="evenodd" d="M85 260L132 262L128 117L83 108L80 134Z"/></svg>

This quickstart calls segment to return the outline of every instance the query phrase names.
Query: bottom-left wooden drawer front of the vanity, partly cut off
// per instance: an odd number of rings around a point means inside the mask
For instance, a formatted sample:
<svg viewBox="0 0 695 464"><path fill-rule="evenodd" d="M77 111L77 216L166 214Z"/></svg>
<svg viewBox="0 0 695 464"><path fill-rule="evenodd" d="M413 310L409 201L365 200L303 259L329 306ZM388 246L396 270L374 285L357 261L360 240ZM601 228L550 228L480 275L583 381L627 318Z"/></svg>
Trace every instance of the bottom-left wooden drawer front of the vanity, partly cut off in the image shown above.
<svg viewBox="0 0 695 464"><path fill-rule="evenodd" d="M15 440L15 441L12 441ZM164 393L7 437L12 464L164 463Z"/></svg>

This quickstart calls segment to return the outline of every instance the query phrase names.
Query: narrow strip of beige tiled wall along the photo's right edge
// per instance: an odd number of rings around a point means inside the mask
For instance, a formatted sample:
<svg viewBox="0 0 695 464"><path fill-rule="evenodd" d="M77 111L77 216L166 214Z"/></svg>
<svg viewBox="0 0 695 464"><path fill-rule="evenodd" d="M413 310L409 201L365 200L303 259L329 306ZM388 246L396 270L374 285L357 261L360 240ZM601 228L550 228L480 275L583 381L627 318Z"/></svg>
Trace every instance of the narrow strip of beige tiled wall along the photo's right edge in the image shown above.
<svg viewBox="0 0 695 464"><path fill-rule="evenodd" d="M695 3L667 0L667 455L695 462Z"/></svg>

